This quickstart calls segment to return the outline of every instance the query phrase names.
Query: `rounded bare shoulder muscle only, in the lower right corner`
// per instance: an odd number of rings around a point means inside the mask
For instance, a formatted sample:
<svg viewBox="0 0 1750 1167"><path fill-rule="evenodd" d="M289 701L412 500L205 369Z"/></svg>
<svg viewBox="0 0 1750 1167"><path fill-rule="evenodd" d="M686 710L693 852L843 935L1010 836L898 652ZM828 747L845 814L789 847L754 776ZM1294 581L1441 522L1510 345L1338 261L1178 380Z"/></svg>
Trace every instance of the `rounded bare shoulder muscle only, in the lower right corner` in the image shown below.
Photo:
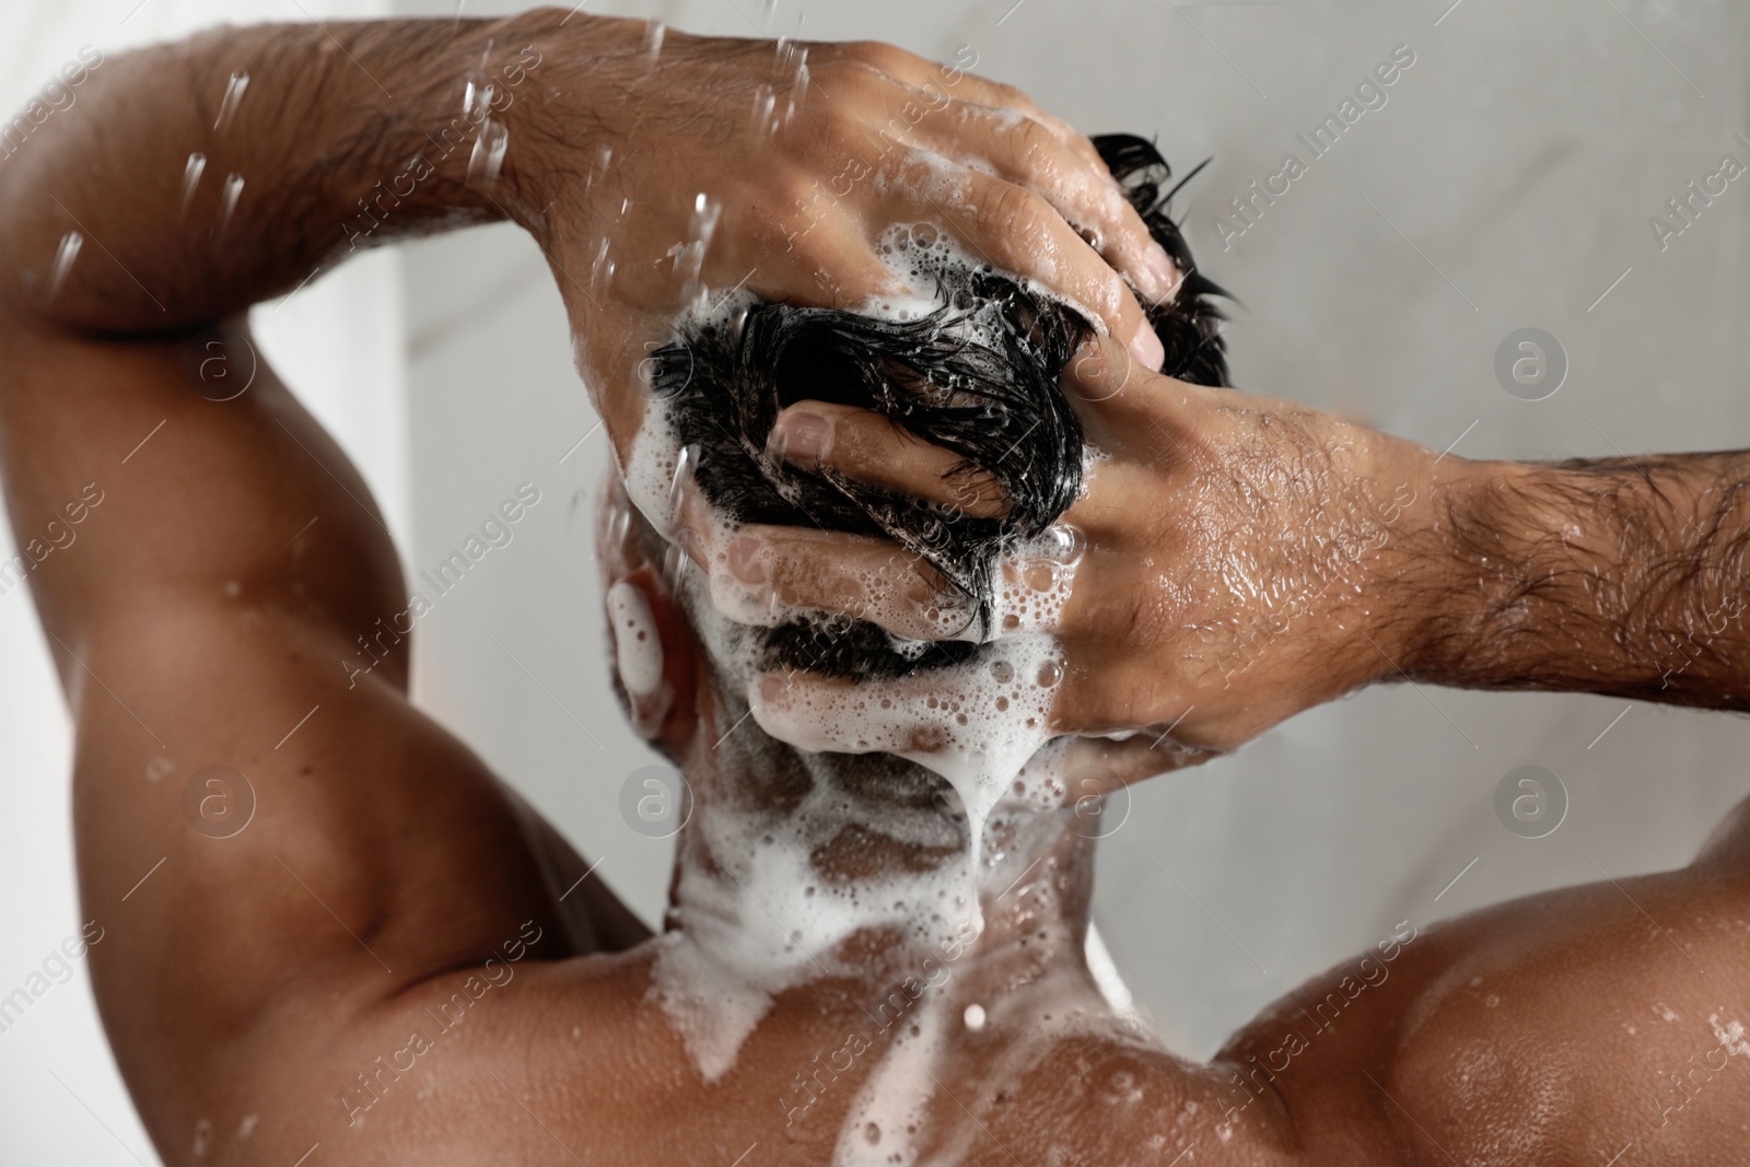
<svg viewBox="0 0 1750 1167"><path fill-rule="evenodd" d="M1432 934L1379 1083L1404 1144L1426 1162L1606 1164L1629 1148L1636 1164L1743 1162L1743 822L1734 812L1680 871L1531 896Z"/></svg>

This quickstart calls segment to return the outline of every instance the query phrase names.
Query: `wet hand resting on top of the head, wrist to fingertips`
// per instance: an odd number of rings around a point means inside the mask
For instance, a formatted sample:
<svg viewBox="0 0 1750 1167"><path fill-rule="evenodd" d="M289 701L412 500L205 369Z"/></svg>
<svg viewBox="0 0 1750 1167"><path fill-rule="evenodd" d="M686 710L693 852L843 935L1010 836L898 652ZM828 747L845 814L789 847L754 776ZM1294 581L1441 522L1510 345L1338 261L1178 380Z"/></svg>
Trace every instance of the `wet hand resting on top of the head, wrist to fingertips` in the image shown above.
<svg viewBox="0 0 1750 1167"><path fill-rule="evenodd" d="M621 451L642 359L702 290L838 308L929 294L877 252L894 224L1038 278L1160 366L1118 273L1150 299L1180 275L1092 143L1022 93L872 42L670 31L653 52L642 21L518 23L542 59L541 96L509 110L523 201L542 208L527 226Z"/></svg>

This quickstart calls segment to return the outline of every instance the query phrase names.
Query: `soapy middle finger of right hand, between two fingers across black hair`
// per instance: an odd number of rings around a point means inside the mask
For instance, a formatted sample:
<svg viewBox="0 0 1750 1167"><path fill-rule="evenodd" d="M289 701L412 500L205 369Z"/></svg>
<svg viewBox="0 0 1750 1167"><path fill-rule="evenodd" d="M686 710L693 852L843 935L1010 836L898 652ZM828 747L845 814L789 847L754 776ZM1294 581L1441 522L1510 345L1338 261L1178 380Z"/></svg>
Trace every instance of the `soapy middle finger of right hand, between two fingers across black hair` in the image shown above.
<svg viewBox="0 0 1750 1167"><path fill-rule="evenodd" d="M887 539L752 525L728 544L719 570L733 583L714 581L712 595L740 590L744 609L838 612L910 640L976 640L980 632L966 598Z"/></svg>

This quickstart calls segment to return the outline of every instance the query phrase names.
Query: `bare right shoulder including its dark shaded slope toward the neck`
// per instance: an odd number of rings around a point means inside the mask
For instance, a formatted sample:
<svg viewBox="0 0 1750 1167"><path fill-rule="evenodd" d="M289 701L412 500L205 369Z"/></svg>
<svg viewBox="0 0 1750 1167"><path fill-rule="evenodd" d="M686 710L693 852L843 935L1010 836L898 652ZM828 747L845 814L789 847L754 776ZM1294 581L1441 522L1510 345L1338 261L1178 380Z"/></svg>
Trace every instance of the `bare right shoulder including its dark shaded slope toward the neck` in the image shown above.
<svg viewBox="0 0 1750 1167"><path fill-rule="evenodd" d="M1232 1122L1279 1097L1295 1162L1743 1162L1746 824L1678 871L1400 924L1222 1050Z"/></svg>

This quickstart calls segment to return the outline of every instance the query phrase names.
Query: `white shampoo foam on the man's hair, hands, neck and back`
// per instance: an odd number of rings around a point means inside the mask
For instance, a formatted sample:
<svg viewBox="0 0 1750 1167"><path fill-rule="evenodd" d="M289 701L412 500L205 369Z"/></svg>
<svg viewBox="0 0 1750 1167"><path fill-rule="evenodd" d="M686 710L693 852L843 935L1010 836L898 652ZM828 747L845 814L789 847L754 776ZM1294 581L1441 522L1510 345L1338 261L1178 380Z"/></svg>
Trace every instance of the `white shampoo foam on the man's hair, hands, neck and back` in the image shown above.
<svg viewBox="0 0 1750 1167"><path fill-rule="evenodd" d="M931 289L933 273L943 266L976 266L934 229L889 231L882 254L915 289ZM746 294L730 296L709 315L728 324L747 303ZM936 299L896 296L861 310L905 320L938 306ZM695 308L695 315L705 310ZM978 339L990 322L975 318L959 327ZM693 549L707 572L670 556L677 569L674 583L688 598L695 628L726 686L746 695L747 712L765 733L808 751L800 765L812 779L802 801L782 810L752 801L738 805L728 791L704 791L682 835L670 913L677 927L662 941L654 994L698 1073L716 1081L735 1066L742 1043L777 994L821 976L863 973L836 955L852 934L894 929L917 948L976 936L984 926L980 899L1003 892L994 882L998 873L1012 885L1017 871L1008 868L1027 866L1031 856L990 852L985 835L1004 805L1038 815L1064 801L1066 744L1046 747L1054 738L1050 710L1064 675L1052 628L1069 597L1082 541L1068 528L1054 528L1017 548L1013 562L998 570L989 628L966 628L964 614L952 611L936 614L940 623L928 628L929 635L952 632L992 642L964 665L892 684L796 682L766 693L760 640L751 626L807 612L786 609L768 590L747 588L726 570L737 525L712 513L691 486L693 457L679 450L665 406L653 401L623 467L626 493L663 537L681 537L682 511L700 532ZM889 581L872 576L864 583L877 595ZM612 591L609 611L621 677L634 691L635 682L651 682L653 668L660 677L660 647L653 665L642 647L646 640L637 637L649 612ZM621 628L630 642L620 640ZM896 647L905 644L896 640ZM794 765L761 754L770 744L760 735L737 735L744 710L726 705L718 709L714 728L719 738L714 756L723 773L770 773L777 765ZM943 815L872 807L831 758L844 752L896 754L942 775L957 794L962 829ZM816 856L850 826L938 850L961 849L962 857L880 878L822 878ZM987 1024L978 1010L980 1025ZM956 1013L945 992L929 990L850 1106L835 1153L838 1167L915 1162L934 1088L931 1071L948 1039L961 1032L950 1022L978 1029L971 1018L971 1011Z"/></svg>

